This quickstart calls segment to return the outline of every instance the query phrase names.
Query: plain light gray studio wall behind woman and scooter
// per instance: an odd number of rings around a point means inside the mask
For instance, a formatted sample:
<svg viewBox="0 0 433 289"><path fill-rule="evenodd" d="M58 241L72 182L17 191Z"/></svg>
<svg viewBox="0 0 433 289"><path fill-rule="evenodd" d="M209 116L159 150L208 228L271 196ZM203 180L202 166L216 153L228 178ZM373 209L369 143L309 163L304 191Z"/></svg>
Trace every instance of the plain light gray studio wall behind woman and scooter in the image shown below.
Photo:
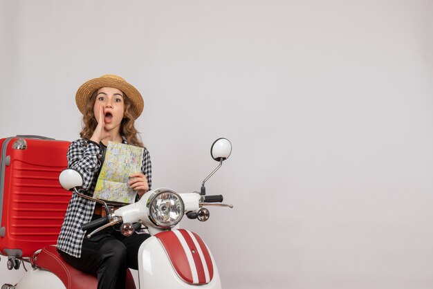
<svg viewBox="0 0 433 289"><path fill-rule="evenodd" d="M234 209L183 221L223 288L433 287L433 1L0 0L0 138L75 140L75 91L144 95L154 188ZM0 261L0 285L24 274Z"/></svg>

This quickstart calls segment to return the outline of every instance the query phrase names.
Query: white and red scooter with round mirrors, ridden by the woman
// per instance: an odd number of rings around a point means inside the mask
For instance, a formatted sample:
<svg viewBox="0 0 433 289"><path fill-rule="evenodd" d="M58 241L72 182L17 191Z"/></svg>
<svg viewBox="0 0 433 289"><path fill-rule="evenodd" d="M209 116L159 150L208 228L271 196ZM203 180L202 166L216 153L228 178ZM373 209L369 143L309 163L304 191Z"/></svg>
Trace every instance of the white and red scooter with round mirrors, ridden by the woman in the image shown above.
<svg viewBox="0 0 433 289"><path fill-rule="evenodd" d="M221 203L222 195L205 194L205 182L231 151L231 143L226 138L219 138L212 144L211 156L219 165L203 180L200 192L178 194L169 188L153 189L140 201L116 210L100 199L80 194L78 188L82 186L82 176L73 169L62 171L59 182L73 194L104 206L106 216L82 226L87 236L113 225L120 225L120 232L125 236L143 228L149 231L151 237L142 243L138 252L138 288L221 288L219 272L208 246L198 234L179 228L179 222L184 215L207 221L210 216L208 206L233 207ZM1 289L91 289L98 283L95 276L68 265L57 253L55 245L48 245L35 252L30 260L23 261L31 264L24 277L15 286L3 284ZM14 265L16 263L11 264ZM127 288L136 288L131 272L128 272Z"/></svg>

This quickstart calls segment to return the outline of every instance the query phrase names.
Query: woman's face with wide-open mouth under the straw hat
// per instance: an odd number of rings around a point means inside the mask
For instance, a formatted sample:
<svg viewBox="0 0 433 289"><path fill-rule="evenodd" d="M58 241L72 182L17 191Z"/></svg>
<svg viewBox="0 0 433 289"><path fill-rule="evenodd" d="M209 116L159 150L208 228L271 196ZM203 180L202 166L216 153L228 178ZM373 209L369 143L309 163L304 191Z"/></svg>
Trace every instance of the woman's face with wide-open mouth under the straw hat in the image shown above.
<svg viewBox="0 0 433 289"><path fill-rule="evenodd" d="M102 87L96 95L95 105L93 105L93 114L96 120L100 120L100 110L103 113L104 129L120 129L120 123L125 111L125 100L123 93L118 88Z"/></svg>

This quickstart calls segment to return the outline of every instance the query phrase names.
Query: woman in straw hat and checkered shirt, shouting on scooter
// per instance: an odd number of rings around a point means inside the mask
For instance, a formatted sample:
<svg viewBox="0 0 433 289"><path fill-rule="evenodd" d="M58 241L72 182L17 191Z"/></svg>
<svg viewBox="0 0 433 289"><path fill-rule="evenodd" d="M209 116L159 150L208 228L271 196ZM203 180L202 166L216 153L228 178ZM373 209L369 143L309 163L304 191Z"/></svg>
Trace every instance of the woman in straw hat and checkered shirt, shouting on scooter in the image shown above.
<svg viewBox="0 0 433 289"><path fill-rule="evenodd" d="M135 87L117 75L102 75L85 82L75 95L83 114L81 138L71 143L68 167L84 179L82 194L93 195L108 142L143 147L134 127L144 103ZM151 162L144 149L141 171L130 176L138 200L151 187ZM138 248L149 234L125 237L116 228L86 238L81 225L104 214L101 205L73 194L57 240L59 254L75 268L98 276L98 289L125 288L127 268L138 269Z"/></svg>

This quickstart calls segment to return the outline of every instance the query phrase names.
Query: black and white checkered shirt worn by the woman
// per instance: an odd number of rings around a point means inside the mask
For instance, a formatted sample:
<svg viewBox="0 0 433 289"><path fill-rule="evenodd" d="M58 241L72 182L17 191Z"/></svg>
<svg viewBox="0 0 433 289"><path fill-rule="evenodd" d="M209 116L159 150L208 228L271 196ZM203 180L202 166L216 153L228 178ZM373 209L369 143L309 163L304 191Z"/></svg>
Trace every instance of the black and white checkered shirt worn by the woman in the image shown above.
<svg viewBox="0 0 433 289"><path fill-rule="evenodd" d="M123 142L126 143L125 140ZM102 166L100 163L102 148L95 142L86 139L75 140L69 146L66 156L68 167L76 169L83 176L80 193L92 196L98 180L98 171ZM141 160L141 172L146 176L150 189L151 161L149 151L146 148ZM73 257L81 257L81 246L85 234L81 230L81 225L91 221L94 209L95 202L81 198L76 194L72 195L59 239L57 239L57 249Z"/></svg>

